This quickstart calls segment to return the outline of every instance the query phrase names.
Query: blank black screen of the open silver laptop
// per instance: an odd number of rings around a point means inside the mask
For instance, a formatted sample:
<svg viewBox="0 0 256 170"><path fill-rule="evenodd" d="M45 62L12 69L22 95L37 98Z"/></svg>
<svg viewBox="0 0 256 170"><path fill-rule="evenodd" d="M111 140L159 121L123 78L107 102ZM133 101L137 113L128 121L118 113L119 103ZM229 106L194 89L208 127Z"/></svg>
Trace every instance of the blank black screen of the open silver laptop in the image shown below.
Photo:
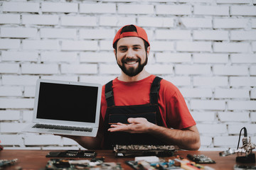
<svg viewBox="0 0 256 170"><path fill-rule="evenodd" d="M95 123L97 86L41 82L36 118Z"/></svg>

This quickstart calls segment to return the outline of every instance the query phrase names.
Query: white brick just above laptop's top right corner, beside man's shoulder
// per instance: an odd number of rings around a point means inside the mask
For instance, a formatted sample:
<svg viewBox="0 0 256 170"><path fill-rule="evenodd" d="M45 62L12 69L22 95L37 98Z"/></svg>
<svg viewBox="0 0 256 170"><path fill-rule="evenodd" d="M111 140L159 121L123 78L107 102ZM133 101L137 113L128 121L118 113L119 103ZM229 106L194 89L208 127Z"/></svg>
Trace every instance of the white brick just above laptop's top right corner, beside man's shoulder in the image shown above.
<svg viewBox="0 0 256 170"><path fill-rule="evenodd" d="M99 84L107 84L108 81L115 79L116 76L80 76L80 82L87 83L99 83Z"/></svg>

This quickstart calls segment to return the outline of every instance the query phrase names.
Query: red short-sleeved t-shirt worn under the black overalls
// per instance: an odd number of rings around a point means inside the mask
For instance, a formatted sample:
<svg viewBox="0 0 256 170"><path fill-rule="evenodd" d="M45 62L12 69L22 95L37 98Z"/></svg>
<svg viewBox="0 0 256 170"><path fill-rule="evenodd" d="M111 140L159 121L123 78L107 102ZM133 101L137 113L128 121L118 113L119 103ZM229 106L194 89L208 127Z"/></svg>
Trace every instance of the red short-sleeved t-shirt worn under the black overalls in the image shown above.
<svg viewBox="0 0 256 170"><path fill-rule="evenodd" d="M151 84L155 77L150 75L145 79L133 82L114 79L112 87L115 106L148 104ZM164 79L160 83L158 103L166 128L182 129L196 125L181 92L174 84ZM106 111L105 86L102 86L101 115L103 120Z"/></svg>

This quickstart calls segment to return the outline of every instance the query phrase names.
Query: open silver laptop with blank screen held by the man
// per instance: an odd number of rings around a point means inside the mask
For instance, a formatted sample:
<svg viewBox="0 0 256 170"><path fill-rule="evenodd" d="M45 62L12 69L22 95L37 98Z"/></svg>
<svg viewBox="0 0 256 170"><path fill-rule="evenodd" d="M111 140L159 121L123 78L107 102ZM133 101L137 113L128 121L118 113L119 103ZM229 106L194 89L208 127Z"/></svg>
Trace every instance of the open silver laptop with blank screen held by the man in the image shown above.
<svg viewBox="0 0 256 170"><path fill-rule="evenodd" d="M23 132L95 137L102 85L38 79L33 120Z"/></svg>

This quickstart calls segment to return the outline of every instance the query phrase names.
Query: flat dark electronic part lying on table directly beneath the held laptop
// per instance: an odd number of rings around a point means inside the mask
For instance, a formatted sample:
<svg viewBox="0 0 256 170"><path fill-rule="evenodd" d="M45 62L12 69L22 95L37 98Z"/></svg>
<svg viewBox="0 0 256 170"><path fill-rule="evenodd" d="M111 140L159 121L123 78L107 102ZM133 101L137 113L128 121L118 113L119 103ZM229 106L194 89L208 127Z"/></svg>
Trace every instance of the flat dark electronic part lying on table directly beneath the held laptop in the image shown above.
<svg viewBox="0 0 256 170"><path fill-rule="evenodd" d="M86 158L86 157L96 157L96 152L92 150L68 150L65 152L49 152L46 154L46 157L77 157L77 158Z"/></svg>

